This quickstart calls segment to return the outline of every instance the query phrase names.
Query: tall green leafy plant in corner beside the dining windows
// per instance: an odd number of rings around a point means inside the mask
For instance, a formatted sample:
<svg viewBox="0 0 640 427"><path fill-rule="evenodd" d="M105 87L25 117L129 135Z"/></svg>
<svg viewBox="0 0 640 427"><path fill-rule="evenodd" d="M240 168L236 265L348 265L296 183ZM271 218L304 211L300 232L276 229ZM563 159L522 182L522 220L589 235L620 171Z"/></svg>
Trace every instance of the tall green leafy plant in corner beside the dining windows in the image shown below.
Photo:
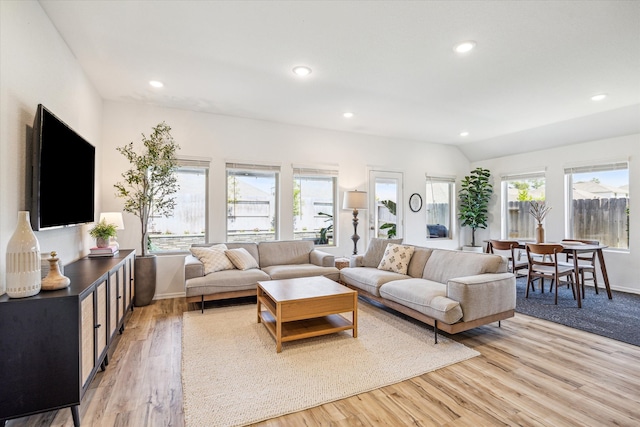
<svg viewBox="0 0 640 427"><path fill-rule="evenodd" d="M458 192L460 225L471 228L471 246L476 246L476 230L487 228L489 201L493 186L489 182L491 172L478 167L462 180Z"/></svg>

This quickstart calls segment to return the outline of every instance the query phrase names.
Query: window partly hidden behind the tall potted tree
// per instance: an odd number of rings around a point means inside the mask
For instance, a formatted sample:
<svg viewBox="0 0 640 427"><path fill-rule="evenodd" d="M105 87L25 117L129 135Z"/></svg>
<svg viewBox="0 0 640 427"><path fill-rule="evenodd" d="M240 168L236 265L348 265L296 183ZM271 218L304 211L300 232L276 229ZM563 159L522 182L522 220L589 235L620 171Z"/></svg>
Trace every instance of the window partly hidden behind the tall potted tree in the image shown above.
<svg viewBox="0 0 640 427"><path fill-rule="evenodd" d="M189 250L207 241L208 160L178 159L178 192L170 217L152 216L149 245L154 252Z"/></svg>

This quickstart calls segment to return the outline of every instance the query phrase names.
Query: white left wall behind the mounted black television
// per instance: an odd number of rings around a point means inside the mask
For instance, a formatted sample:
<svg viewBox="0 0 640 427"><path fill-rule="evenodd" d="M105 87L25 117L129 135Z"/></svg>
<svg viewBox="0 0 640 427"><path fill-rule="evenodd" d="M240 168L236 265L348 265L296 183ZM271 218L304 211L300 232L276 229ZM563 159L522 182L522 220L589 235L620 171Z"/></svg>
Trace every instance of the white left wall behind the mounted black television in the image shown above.
<svg viewBox="0 0 640 427"><path fill-rule="evenodd" d="M101 156L102 100L38 2L0 1L0 31L2 294L6 288L7 243L16 227L18 211L26 208L26 140L36 107L44 104L95 145L97 156ZM73 167L71 158L69 164L60 166ZM99 165L97 174L99 177ZM97 211L98 208L99 205ZM64 264L86 255L94 243L87 226L40 231L36 235L41 252L57 251Z"/></svg>

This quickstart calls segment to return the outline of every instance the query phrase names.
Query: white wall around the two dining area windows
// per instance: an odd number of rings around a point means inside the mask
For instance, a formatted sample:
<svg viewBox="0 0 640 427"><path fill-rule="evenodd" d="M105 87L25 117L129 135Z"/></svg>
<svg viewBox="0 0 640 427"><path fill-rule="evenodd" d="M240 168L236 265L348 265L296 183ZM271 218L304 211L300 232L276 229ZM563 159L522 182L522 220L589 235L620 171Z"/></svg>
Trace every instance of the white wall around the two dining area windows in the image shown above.
<svg viewBox="0 0 640 427"><path fill-rule="evenodd" d="M545 219L547 241L560 241L565 235L565 166L585 163L629 160L629 251L607 250L605 262L612 289L640 293L640 134L600 141L586 142L550 150L500 157L477 162L493 175L496 194L490 212L487 230L481 230L481 238L500 238L500 176L528 171L546 171L545 198L551 211ZM599 283L602 283L599 280Z"/></svg>

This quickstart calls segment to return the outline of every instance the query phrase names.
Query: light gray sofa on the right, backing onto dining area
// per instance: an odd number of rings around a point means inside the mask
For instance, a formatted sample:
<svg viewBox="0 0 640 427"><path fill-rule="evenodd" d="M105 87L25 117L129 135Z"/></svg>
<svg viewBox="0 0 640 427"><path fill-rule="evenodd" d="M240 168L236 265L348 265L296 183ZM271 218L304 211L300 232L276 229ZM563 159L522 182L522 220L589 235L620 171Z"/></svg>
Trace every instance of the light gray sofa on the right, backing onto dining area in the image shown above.
<svg viewBox="0 0 640 427"><path fill-rule="evenodd" d="M500 255L414 246L407 274L378 269L388 240L372 239L364 255L351 258L340 281L375 300L455 334L513 317L516 279Z"/></svg>

